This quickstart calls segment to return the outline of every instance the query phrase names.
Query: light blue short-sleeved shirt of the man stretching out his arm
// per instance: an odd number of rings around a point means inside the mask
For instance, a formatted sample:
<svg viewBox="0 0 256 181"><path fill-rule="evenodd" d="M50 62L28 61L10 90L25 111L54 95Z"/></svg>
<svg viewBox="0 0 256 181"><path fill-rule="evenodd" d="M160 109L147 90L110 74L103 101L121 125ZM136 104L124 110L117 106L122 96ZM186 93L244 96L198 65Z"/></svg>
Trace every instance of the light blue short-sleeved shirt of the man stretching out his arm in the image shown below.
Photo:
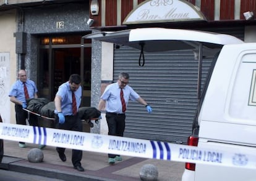
<svg viewBox="0 0 256 181"><path fill-rule="evenodd" d="M115 82L106 87L105 91L101 95L101 99L106 101L106 111L109 113L122 113L122 103L120 97L121 88L118 83ZM124 100L126 102L126 107L128 105L129 99L135 101L139 99L140 95L132 89L132 87L126 85L122 89L124 92Z"/></svg>

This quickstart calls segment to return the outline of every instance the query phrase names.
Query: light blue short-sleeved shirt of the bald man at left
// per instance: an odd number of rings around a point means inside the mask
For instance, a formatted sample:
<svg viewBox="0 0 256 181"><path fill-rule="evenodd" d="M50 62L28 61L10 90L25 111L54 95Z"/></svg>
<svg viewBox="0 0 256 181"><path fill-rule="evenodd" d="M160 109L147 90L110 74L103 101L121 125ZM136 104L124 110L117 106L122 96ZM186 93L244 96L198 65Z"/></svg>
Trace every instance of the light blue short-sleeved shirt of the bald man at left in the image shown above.
<svg viewBox="0 0 256 181"><path fill-rule="evenodd" d="M27 79L27 81L25 82L25 85L28 90L29 98L30 99L34 98L35 93L38 92L35 82L30 79ZM24 93L24 84L22 81L17 80L16 82L14 82L14 84L12 85L11 91L9 92L9 97L11 96L14 96L20 102L26 103L25 93Z"/></svg>

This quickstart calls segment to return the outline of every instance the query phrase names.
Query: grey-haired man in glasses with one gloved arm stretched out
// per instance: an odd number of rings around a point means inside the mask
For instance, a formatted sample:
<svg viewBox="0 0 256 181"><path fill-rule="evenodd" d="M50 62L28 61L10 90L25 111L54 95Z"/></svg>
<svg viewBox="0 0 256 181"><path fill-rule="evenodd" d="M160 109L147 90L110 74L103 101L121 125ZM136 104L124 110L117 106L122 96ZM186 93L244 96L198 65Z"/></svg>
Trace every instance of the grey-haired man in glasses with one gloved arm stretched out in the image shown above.
<svg viewBox="0 0 256 181"><path fill-rule="evenodd" d="M117 82L106 87L101 95L98 110L106 107L106 121L108 123L108 135L123 136L125 129L126 108L130 100L137 100L147 108L148 113L152 112L150 105L137 94L132 87L128 86L129 74L120 73ZM122 161L120 155L108 154L108 163Z"/></svg>

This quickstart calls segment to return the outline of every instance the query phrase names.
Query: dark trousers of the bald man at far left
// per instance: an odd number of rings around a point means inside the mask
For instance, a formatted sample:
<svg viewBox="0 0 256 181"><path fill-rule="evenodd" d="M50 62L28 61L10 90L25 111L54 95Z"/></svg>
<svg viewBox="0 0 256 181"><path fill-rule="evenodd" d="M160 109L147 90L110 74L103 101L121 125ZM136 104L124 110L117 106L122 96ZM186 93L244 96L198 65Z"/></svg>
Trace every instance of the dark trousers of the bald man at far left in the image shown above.
<svg viewBox="0 0 256 181"><path fill-rule="evenodd" d="M39 126L37 116L23 110L21 105L15 104L15 113L16 113L15 118L16 118L17 124L27 125L26 119L28 119L28 123L30 124L30 126ZM24 143L24 142L20 142L20 143Z"/></svg>

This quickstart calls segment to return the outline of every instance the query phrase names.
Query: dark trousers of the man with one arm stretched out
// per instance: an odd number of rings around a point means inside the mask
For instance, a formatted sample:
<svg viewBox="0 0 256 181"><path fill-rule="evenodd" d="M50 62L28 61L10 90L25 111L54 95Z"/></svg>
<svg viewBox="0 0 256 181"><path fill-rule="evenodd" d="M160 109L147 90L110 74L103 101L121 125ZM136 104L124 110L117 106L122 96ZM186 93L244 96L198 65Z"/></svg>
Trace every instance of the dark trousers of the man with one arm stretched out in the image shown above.
<svg viewBox="0 0 256 181"><path fill-rule="evenodd" d="M124 136L124 129L126 127L126 115L116 113L106 113L106 121L108 123L108 135L115 135L119 137ZM119 155L108 154L108 158L115 158Z"/></svg>

